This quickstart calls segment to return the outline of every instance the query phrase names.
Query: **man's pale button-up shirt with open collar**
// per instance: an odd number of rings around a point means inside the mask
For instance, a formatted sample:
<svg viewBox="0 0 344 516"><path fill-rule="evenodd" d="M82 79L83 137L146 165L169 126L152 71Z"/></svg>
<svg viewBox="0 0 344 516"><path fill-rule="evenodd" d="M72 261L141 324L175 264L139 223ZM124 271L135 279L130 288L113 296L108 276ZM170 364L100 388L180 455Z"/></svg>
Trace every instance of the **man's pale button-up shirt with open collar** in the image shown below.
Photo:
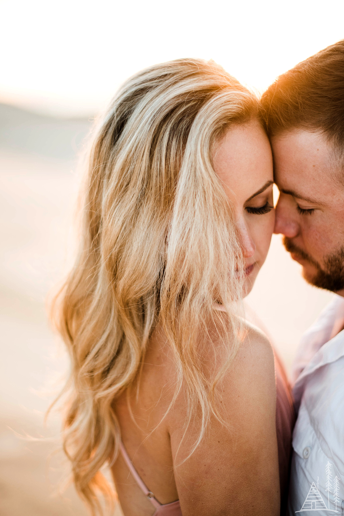
<svg viewBox="0 0 344 516"><path fill-rule="evenodd" d="M292 370L293 432L288 516L344 516L344 298L304 334Z"/></svg>

